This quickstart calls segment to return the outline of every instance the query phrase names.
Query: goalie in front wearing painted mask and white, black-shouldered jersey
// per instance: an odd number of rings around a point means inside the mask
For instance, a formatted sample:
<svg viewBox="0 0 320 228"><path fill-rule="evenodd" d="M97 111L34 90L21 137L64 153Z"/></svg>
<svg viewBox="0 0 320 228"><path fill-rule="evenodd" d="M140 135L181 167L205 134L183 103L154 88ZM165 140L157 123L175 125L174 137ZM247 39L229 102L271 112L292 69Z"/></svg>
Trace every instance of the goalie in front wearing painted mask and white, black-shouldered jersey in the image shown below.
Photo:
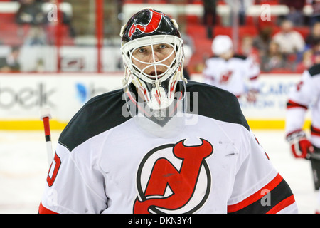
<svg viewBox="0 0 320 228"><path fill-rule="evenodd" d="M124 89L92 98L63 130L39 212L297 212L238 99L183 78L176 21L143 9L121 36Z"/></svg>

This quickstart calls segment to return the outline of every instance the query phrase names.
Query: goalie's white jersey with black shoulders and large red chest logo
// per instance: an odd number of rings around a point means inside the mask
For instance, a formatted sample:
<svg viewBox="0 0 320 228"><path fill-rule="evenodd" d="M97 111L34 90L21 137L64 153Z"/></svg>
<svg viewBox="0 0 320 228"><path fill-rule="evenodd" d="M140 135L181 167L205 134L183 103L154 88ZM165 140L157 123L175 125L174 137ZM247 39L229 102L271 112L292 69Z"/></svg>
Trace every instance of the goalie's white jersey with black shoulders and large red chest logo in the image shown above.
<svg viewBox="0 0 320 228"><path fill-rule="evenodd" d="M204 83L186 90L198 113L163 137L122 115L122 90L92 98L60 135L39 212L297 212L238 99Z"/></svg>

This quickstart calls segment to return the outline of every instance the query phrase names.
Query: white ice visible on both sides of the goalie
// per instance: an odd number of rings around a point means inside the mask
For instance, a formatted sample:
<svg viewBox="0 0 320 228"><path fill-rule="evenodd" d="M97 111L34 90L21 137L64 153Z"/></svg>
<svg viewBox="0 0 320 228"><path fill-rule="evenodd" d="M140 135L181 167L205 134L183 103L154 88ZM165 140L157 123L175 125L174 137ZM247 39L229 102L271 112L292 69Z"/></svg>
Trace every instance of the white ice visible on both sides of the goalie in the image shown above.
<svg viewBox="0 0 320 228"><path fill-rule="evenodd" d="M316 192L308 160L289 152L282 130L253 130L294 192L299 213L314 214ZM59 131L52 131L53 148ZM37 213L48 174L43 131L0 131L0 213Z"/></svg>

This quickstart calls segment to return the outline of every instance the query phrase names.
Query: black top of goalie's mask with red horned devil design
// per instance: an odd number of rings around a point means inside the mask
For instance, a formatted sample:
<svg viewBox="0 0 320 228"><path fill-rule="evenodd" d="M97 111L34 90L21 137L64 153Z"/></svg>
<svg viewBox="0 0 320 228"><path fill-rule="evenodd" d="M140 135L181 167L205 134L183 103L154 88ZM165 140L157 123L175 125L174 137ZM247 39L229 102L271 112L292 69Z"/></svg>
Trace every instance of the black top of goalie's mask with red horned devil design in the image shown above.
<svg viewBox="0 0 320 228"><path fill-rule="evenodd" d="M178 28L169 16L155 9L142 9L127 22L122 33L122 42L154 35L172 35L181 38Z"/></svg>

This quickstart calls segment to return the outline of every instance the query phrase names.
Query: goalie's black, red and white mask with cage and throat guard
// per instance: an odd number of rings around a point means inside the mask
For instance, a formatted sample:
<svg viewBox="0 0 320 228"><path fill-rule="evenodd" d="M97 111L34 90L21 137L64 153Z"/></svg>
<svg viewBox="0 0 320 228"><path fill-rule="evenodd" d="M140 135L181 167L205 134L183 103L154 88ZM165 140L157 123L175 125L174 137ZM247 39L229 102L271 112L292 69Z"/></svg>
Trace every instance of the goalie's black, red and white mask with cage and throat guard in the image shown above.
<svg viewBox="0 0 320 228"><path fill-rule="evenodd" d="M132 116L165 125L183 110L183 46L176 21L143 9L122 26L124 95Z"/></svg>

